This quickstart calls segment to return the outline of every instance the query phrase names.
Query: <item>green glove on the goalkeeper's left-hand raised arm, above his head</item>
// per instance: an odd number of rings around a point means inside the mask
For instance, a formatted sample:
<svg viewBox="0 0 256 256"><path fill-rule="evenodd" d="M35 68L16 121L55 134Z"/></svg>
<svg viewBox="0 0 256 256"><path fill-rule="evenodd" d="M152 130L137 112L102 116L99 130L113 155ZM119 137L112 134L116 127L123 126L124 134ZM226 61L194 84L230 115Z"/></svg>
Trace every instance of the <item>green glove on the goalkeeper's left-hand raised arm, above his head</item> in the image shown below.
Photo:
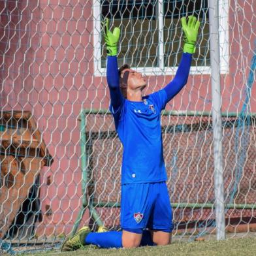
<svg viewBox="0 0 256 256"><path fill-rule="evenodd" d="M120 28L115 27L113 33L108 29L108 18L101 22L103 28L103 36L106 42L106 54L108 56L118 55L118 40L120 38Z"/></svg>

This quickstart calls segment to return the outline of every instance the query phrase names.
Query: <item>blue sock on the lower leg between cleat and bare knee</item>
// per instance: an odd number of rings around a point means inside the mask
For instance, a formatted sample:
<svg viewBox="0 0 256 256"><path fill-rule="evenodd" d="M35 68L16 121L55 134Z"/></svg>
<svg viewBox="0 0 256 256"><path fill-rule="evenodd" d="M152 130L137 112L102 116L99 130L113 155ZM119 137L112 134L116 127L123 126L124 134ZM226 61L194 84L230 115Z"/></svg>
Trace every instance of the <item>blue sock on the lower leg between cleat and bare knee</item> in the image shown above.
<svg viewBox="0 0 256 256"><path fill-rule="evenodd" d="M121 231L91 232L86 236L85 242L100 248L121 248Z"/></svg>

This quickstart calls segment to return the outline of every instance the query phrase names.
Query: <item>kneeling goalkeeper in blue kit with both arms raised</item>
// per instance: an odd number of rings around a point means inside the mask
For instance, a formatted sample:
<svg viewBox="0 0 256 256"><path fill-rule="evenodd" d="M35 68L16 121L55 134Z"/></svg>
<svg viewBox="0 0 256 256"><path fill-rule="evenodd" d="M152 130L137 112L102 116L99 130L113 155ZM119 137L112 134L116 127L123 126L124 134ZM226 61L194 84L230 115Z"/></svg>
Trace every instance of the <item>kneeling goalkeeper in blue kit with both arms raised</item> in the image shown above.
<svg viewBox="0 0 256 256"><path fill-rule="evenodd" d="M124 65L118 71L118 41L120 29L103 31L107 50L106 78L110 89L110 111L116 131L123 144L121 169L122 231L90 232L80 229L68 238L63 251L87 244L101 248L135 248L145 245L167 245L171 241L172 208L166 185L163 159L161 110L187 83L199 21L182 18L184 53L174 79L165 88L142 96L146 80L139 72Z"/></svg>

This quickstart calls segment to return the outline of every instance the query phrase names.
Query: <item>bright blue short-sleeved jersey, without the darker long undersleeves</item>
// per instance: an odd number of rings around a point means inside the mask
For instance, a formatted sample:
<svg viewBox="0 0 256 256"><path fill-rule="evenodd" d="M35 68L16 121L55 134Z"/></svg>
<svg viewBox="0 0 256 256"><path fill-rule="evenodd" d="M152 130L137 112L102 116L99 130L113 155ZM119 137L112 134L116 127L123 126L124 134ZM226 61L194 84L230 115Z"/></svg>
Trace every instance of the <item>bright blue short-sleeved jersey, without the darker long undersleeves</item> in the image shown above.
<svg viewBox="0 0 256 256"><path fill-rule="evenodd" d="M123 99L116 112L110 104L123 144L121 184L167 180L161 134L161 110L167 104L167 93L161 89L142 99L140 102Z"/></svg>

